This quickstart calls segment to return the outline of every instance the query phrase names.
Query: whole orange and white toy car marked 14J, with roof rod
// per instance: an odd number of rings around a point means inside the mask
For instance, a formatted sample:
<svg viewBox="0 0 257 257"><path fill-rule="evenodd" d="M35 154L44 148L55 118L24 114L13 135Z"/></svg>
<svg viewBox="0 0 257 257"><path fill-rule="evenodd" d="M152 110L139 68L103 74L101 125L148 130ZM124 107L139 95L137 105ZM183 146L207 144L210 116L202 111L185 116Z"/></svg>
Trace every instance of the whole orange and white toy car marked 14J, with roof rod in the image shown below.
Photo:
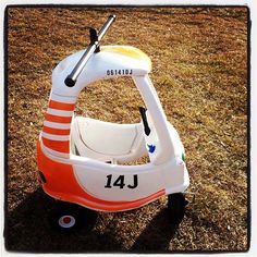
<svg viewBox="0 0 257 257"><path fill-rule="evenodd" d="M169 195L172 221L179 223L184 216L186 200L182 193L189 185L184 147L167 121L149 78L150 59L134 47L99 46L114 19L110 16L99 34L90 28L86 51L69 56L52 72L37 158L44 191L64 206L71 203L54 217L62 230L77 225L78 213L71 208L77 205L123 211ZM74 117L83 88L118 76L131 76L144 99L140 123L117 124ZM149 163L122 164L146 155Z"/></svg>

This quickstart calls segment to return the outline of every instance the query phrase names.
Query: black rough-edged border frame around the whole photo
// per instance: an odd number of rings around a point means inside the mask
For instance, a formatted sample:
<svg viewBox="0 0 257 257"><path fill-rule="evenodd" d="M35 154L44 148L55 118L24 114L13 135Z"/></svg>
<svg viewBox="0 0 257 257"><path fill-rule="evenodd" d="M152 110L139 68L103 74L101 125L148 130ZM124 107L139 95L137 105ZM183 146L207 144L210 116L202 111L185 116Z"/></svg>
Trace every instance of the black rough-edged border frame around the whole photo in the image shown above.
<svg viewBox="0 0 257 257"><path fill-rule="evenodd" d="M250 8L247 4L7 4L4 8L4 15L3 15L3 60L4 60L4 86L3 86L3 96L4 96L4 229L3 229L3 236L4 236L4 246L7 249L7 242L5 237L8 236L8 81L9 81L9 72L8 72L8 60L9 60L9 45L8 45L8 30L9 30L9 19L8 19L8 11L11 8L246 8L247 9L247 249L246 250L170 250L170 252L142 252L138 254L223 254L223 253L247 253L250 248L250 238L252 238L252 207L250 207L250 35L252 35L252 21L250 21ZM35 253L35 252L13 252L8 250L9 253ZM59 254L72 254L75 252L36 252L36 253L59 253ZM78 252L81 254L86 254L88 252ZM91 252L91 254L101 254L102 252ZM135 254L136 252L117 252L115 254ZM77 254L77 253L76 253ZM113 252L106 252L105 254L114 254Z"/></svg>

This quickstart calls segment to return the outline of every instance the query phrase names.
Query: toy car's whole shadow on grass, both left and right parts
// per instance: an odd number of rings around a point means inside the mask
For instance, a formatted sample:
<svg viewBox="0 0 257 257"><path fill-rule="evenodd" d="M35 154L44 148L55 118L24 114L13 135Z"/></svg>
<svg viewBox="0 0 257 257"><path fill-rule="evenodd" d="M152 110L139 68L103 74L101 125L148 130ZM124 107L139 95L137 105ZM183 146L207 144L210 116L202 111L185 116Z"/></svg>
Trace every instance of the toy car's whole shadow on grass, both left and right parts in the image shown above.
<svg viewBox="0 0 257 257"><path fill-rule="evenodd" d="M162 253L168 249L175 232L167 210L162 209L130 249L122 238L118 238L115 230L96 229L97 212L90 218L90 225L73 234L62 234L53 231L48 222L56 204L39 188L13 211L7 212L5 249L19 253Z"/></svg>

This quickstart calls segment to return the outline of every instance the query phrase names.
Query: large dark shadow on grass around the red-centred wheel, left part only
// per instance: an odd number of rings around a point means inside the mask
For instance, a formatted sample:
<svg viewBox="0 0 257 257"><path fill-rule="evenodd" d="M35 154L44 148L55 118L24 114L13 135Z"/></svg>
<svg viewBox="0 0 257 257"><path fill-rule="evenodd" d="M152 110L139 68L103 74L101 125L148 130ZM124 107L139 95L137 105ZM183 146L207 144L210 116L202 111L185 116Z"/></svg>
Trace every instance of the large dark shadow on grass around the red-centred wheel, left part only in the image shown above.
<svg viewBox="0 0 257 257"><path fill-rule="evenodd" d="M5 248L11 252L28 253L99 253L122 250L111 232L94 230L97 215L91 217L90 227L73 234L53 231L48 216L56 205L41 189L29 195L13 211L5 213Z"/></svg>

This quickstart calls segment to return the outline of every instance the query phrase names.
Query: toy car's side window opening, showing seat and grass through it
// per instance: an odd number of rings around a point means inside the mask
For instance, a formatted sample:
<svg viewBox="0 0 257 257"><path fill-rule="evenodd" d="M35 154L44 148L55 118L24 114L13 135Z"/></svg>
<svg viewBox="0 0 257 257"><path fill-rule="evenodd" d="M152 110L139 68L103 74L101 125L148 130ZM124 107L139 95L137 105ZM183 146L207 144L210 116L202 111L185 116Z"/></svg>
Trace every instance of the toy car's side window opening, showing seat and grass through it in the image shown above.
<svg viewBox="0 0 257 257"><path fill-rule="evenodd" d="M132 77L102 79L86 86L79 94L75 110L75 127L79 136L73 133L76 145L74 154L108 163L117 160L119 164L125 166L149 162L147 152L143 157L130 157L135 149L142 152L145 146L144 132L134 125L142 122L139 107L144 106ZM85 124L85 118L94 119L89 121L89 126ZM95 120L111 122L114 126Z"/></svg>

